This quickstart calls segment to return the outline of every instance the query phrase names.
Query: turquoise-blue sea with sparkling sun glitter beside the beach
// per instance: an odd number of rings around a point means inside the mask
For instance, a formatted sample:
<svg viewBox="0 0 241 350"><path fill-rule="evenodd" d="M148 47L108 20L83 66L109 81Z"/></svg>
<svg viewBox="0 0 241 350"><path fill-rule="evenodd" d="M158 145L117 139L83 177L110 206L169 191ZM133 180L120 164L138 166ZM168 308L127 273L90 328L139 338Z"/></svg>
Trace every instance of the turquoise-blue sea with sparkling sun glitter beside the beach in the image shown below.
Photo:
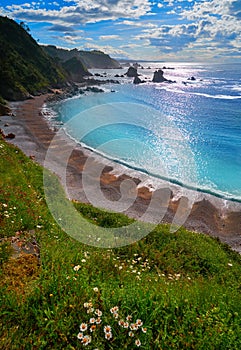
<svg viewBox="0 0 241 350"><path fill-rule="evenodd" d="M163 67L172 83L151 82ZM119 84L52 103L51 124L153 183L241 202L241 64L141 62L139 85L127 69L91 70Z"/></svg>

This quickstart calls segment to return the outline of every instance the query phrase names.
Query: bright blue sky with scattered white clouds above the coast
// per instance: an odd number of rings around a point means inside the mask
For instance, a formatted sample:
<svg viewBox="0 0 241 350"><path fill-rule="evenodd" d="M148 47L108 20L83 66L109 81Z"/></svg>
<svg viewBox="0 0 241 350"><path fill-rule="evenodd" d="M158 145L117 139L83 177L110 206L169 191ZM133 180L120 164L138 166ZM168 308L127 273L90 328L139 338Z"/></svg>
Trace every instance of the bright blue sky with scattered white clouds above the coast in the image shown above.
<svg viewBox="0 0 241 350"><path fill-rule="evenodd" d="M115 58L241 62L241 0L0 0L40 44Z"/></svg>

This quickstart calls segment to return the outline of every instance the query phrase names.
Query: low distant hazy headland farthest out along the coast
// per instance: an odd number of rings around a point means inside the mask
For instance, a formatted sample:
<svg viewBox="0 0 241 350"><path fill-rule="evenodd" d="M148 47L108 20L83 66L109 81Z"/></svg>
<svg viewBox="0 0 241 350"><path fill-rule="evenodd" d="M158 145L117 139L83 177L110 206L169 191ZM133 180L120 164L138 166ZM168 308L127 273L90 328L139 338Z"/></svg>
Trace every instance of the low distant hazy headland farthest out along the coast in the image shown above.
<svg viewBox="0 0 241 350"><path fill-rule="evenodd" d="M109 55L101 51L83 51L83 50L65 50L59 49L56 46L43 46L44 50L52 57L58 58L61 61L67 61L73 57L79 59L88 69L112 69L120 68L119 62L111 58Z"/></svg>

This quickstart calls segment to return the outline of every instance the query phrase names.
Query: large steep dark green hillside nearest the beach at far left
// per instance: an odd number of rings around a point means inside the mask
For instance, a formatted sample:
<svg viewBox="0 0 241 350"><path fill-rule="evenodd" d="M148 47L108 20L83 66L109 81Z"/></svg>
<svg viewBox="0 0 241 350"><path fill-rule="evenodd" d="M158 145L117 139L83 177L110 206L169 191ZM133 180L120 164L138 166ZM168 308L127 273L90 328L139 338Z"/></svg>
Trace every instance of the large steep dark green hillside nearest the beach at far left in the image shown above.
<svg viewBox="0 0 241 350"><path fill-rule="evenodd" d="M48 87L60 87L66 73L31 37L24 25L0 17L0 95L22 100Z"/></svg>

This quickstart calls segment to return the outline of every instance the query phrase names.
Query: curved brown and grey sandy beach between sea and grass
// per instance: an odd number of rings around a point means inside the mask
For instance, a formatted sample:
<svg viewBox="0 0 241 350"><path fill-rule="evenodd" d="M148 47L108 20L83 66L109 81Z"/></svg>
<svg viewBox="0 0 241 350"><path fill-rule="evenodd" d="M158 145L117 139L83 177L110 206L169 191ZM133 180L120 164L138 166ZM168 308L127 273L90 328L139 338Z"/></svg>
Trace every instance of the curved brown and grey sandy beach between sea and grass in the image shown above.
<svg viewBox="0 0 241 350"><path fill-rule="evenodd" d="M70 199L90 202L89 198L94 197L96 189L100 188L100 207L115 210L118 208L118 201L123 197L123 206L119 205L123 209L120 211L130 217L158 222L162 213L162 222L172 223L178 213L179 221L184 220L186 228L219 237L221 241L241 253L240 203L224 201L208 194L197 195L190 191L190 197L194 198L192 203L190 198L188 199L188 192L177 196L177 193L180 194L180 188L169 183L162 183L158 190L153 191L151 186L148 186L151 181L148 182L147 176L138 176L137 173L134 176L130 175L124 167L117 167L115 163L96 157L91 151L75 145L63 133L56 137L56 132L50 128L47 119L42 115L42 106L46 98L47 95L43 95L21 103L12 103L14 116L0 117L0 128L5 134L14 133L15 138L10 142L42 165L46 165L49 148L56 150L56 159L51 164L48 163L48 167L62 180ZM64 163L65 157L68 158L66 173L61 164ZM83 186L83 169L88 169L91 178L87 191L86 183ZM100 169L101 174L98 176ZM129 186L126 180L131 180L132 186ZM123 181L124 194L121 185Z"/></svg>

